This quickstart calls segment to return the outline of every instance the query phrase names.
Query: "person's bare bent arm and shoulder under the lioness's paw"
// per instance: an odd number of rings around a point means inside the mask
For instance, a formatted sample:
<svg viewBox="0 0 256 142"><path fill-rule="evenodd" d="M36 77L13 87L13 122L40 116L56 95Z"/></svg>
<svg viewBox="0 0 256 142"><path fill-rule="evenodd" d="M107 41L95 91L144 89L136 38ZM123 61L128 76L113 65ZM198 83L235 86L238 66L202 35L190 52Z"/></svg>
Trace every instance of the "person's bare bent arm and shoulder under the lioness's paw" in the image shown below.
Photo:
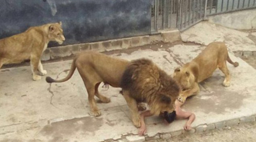
<svg viewBox="0 0 256 142"><path fill-rule="evenodd" d="M192 129L191 123L195 120L195 114L186 112L186 111L182 111L180 108L182 104L183 103L179 102L178 100L175 101L176 118L177 119L189 119L184 125L184 130L191 130Z"/></svg>

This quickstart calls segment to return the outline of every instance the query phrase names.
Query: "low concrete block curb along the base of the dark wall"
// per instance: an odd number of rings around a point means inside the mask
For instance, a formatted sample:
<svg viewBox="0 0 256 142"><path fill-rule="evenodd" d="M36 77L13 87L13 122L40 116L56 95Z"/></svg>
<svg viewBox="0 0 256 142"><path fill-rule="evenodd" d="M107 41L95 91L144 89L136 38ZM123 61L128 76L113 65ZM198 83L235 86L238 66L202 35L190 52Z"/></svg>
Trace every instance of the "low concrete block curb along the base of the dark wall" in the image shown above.
<svg viewBox="0 0 256 142"><path fill-rule="evenodd" d="M46 48L46 50L43 52L41 60L47 61L51 59L68 57L86 50L95 50L95 51L103 52L103 51L111 51L111 50L117 50L117 49L127 49L132 47L148 45L152 43L158 43L158 42L172 43L180 40L181 40L180 31L178 29L174 29L171 31L163 31L155 35L136 36L136 37L129 37L129 38L106 40L101 42L83 43L83 44L74 44L74 45L65 45L65 46Z"/></svg>

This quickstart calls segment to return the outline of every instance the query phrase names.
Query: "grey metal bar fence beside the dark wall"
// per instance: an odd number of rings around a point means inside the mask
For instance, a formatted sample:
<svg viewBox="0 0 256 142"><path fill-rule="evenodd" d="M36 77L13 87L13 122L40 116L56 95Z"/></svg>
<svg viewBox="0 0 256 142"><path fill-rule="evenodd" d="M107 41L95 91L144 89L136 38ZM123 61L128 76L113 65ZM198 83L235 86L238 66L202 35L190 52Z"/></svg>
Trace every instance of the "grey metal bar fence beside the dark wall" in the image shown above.
<svg viewBox="0 0 256 142"><path fill-rule="evenodd" d="M186 28L209 15L256 8L256 0L152 0L151 32Z"/></svg>

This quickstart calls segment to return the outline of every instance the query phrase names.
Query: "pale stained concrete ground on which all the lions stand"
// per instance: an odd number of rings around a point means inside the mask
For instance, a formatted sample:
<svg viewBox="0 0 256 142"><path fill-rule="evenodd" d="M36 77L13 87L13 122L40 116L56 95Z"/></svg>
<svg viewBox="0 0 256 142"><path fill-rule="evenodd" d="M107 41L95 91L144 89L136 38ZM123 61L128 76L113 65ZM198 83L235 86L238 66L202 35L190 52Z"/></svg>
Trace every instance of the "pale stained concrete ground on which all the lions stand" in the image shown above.
<svg viewBox="0 0 256 142"><path fill-rule="evenodd" d="M192 60L205 45L224 41L233 61L228 64L231 86L224 87L220 70L201 83L199 95L189 98L182 109L196 115L193 130L183 131L185 120L166 126L161 118L146 119L147 135L139 137L132 125L120 88L100 87L111 102L97 103L102 116L89 116L87 92L78 72L64 83L32 81L29 66L0 70L0 142L99 142L144 141L170 138L181 133L221 129L224 126L255 121L255 69L232 51L256 51L255 31L236 31L208 22L201 22L181 34L184 43L154 44L133 49L106 52L110 56L132 60L149 58L168 74ZM72 60L44 63L47 76L64 78Z"/></svg>

